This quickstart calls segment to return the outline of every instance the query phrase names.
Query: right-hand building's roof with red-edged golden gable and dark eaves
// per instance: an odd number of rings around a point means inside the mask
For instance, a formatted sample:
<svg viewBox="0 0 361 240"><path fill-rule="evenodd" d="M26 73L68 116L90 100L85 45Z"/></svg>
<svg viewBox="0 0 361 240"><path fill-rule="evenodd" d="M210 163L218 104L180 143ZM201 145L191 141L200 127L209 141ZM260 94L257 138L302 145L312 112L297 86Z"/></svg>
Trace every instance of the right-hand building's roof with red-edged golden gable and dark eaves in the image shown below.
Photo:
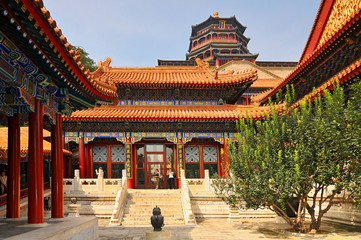
<svg viewBox="0 0 361 240"><path fill-rule="evenodd" d="M361 69L360 10L360 0L322 1L301 62L284 81L253 98L253 102L267 104L268 98L274 100L280 90L284 94L286 85L291 84L296 89L297 101L304 97L312 99L322 94L323 89L332 89L336 81L345 85L358 78ZM321 14L327 16L322 18ZM327 22L322 22L323 19ZM317 28L322 28L322 32L317 32ZM316 43L312 45L311 40Z"/></svg>

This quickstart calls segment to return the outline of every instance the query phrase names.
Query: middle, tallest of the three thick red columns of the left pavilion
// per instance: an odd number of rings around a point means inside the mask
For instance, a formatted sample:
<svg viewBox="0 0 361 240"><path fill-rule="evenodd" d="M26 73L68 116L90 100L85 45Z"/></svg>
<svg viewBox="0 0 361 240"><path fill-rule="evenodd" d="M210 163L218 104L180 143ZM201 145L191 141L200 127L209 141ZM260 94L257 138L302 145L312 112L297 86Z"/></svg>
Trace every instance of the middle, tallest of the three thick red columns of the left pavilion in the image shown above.
<svg viewBox="0 0 361 240"><path fill-rule="evenodd" d="M29 113L28 223L44 222L43 105L35 99Z"/></svg>

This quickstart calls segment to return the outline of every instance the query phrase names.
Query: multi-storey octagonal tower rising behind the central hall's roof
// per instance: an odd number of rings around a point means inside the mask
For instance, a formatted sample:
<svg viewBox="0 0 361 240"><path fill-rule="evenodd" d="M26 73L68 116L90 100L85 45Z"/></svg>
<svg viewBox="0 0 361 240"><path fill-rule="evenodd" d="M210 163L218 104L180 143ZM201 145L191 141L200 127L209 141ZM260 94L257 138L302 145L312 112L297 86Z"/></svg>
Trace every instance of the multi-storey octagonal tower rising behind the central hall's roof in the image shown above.
<svg viewBox="0 0 361 240"><path fill-rule="evenodd" d="M220 18L218 12L204 22L192 26L187 60L200 58L216 61L222 65L230 60L254 61L258 54L250 53L247 44L250 38L243 35L246 27L235 16Z"/></svg>

